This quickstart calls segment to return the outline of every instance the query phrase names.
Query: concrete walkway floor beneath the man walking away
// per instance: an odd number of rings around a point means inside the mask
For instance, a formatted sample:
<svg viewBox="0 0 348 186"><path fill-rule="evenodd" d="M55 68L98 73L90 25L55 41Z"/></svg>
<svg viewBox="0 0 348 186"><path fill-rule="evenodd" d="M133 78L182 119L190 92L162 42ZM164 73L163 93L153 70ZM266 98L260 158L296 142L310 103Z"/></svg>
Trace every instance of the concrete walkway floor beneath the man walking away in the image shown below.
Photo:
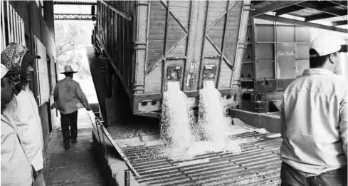
<svg viewBox="0 0 348 186"><path fill-rule="evenodd" d="M46 185L104 185L91 140L92 129L80 128L78 143L65 150L61 131L54 131L47 153Z"/></svg>

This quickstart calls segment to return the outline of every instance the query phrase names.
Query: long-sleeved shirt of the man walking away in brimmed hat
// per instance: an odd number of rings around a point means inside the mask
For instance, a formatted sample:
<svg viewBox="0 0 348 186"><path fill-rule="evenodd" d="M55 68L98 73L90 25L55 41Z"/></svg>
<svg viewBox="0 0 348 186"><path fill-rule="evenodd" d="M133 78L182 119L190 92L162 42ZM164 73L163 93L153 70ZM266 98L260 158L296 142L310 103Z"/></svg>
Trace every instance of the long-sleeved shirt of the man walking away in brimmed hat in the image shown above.
<svg viewBox="0 0 348 186"><path fill-rule="evenodd" d="M63 114L73 113L79 108L90 108L80 84L69 77L58 81L53 98L55 102L52 106Z"/></svg>

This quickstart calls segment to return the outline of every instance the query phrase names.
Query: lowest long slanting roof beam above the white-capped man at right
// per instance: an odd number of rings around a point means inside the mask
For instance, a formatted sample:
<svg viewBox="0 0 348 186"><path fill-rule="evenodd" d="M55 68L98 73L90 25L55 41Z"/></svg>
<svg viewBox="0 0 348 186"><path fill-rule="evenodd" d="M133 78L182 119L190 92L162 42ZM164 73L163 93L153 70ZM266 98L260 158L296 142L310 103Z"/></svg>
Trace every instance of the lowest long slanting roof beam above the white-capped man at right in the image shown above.
<svg viewBox="0 0 348 186"><path fill-rule="evenodd" d="M268 20L268 21L278 21L278 22L285 23L285 24L295 24L295 25L300 25L300 26L308 26L308 27L313 27L313 28L317 28L317 29L325 29L325 30L329 30L329 31L338 31L338 32L343 32L343 33L347 33L347 31L348 31L347 29L337 28L335 26L313 24L310 22L297 21L295 19L287 19L287 18L278 17L278 16L261 15L261 16L258 16L258 19L263 19L263 20Z"/></svg>

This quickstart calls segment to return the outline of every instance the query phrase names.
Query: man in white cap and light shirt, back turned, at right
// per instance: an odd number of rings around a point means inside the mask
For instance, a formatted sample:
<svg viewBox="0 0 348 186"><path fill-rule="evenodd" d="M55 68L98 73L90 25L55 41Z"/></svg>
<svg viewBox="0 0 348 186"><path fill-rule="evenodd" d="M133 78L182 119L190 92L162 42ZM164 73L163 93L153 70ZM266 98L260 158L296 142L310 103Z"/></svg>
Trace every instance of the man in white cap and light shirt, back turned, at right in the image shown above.
<svg viewBox="0 0 348 186"><path fill-rule="evenodd" d="M290 83L283 98L282 185L347 185L347 82L335 74L337 38L315 38L310 68Z"/></svg>

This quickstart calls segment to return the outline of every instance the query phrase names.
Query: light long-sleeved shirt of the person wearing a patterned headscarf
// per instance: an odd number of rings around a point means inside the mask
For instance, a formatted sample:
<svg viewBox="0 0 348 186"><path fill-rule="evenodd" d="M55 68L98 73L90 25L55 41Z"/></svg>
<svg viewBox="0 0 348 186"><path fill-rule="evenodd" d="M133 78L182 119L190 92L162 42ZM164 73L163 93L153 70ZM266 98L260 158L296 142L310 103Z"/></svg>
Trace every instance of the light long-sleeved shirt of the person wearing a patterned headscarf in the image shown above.
<svg viewBox="0 0 348 186"><path fill-rule="evenodd" d="M3 115L11 118L21 135L23 149L36 171L43 169L43 131L38 105L33 93L26 86L6 105Z"/></svg>

